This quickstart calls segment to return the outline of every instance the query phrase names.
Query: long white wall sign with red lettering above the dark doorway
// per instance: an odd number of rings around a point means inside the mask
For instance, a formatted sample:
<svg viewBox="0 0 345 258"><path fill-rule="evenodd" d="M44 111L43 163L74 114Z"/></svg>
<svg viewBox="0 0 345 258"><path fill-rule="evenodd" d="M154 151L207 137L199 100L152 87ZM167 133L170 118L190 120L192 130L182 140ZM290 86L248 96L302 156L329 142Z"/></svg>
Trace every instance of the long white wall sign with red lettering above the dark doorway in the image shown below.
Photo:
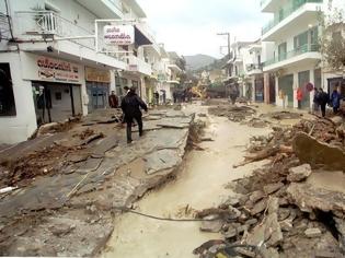
<svg viewBox="0 0 345 258"><path fill-rule="evenodd" d="M82 84L82 66L32 54L25 54L22 60L24 79Z"/></svg>

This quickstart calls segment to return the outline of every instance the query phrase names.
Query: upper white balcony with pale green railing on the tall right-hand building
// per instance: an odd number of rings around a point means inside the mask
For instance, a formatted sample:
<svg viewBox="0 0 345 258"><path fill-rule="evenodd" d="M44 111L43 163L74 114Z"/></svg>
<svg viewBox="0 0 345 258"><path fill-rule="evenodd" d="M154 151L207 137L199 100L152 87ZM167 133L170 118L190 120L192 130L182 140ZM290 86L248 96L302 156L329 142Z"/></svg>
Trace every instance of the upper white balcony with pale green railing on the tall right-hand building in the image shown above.
<svg viewBox="0 0 345 258"><path fill-rule="evenodd" d="M296 27L317 24L317 12L321 10L322 2L323 0L300 0L296 4L284 7L281 12L275 14L275 19L262 28L262 40L275 42Z"/></svg>

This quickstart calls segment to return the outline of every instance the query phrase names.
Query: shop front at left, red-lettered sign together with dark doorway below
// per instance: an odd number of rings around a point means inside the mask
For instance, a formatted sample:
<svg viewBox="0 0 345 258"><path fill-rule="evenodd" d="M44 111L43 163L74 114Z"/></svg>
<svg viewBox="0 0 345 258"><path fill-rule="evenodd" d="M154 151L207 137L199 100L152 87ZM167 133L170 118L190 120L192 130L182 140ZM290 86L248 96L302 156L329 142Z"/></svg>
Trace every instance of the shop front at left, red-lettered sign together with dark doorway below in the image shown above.
<svg viewBox="0 0 345 258"><path fill-rule="evenodd" d="M25 54L23 79L32 83L37 125L82 115L82 66Z"/></svg>

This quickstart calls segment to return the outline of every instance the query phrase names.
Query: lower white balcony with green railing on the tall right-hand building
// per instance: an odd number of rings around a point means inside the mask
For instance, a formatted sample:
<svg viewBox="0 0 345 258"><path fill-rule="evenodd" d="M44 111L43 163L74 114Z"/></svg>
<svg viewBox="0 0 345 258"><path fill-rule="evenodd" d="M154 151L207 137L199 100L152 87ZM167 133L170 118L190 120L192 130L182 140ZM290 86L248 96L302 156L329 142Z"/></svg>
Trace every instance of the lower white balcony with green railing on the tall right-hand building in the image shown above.
<svg viewBox="0 0 345 258"><path fill-rule="evenodd" d="M320 46L318 44L307 44L291 51L285 52L275 57L272 60L264 62L264 71L272 71L284 67L292 66L298 62L319 60L321 54L319 52Z"/></svg>

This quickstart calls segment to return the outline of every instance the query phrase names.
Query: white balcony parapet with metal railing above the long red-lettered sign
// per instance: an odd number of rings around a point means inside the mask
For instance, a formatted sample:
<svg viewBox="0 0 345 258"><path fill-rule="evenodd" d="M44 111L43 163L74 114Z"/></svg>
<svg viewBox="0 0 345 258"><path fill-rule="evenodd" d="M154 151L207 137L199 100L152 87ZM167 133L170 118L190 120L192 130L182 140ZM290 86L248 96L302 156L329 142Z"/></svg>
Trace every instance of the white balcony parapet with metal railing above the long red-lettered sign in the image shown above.
<svg viewBox="0 0 345 258"><path fill-rule="evenodd" d="M82 37L94 35L91 30L79 26L76 22L50 11L16 12L15 23L21 36ZM95 46L94 38L70 40L91 49L94 49Z"/></svg>

